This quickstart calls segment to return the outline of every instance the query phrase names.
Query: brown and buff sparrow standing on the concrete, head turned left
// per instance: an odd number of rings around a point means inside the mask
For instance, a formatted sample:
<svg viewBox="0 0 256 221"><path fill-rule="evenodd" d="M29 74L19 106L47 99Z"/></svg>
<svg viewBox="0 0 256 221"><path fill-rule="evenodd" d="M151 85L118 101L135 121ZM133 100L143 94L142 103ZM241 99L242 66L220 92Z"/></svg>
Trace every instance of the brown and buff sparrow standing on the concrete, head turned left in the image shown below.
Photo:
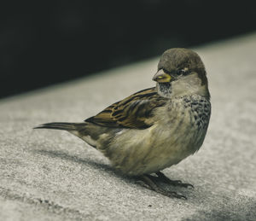
<svg viewBox="0 0 256 221"><path fill-rule="evenodd" d="M96 148L113 168L137 183L168 197L187 199L158 183L184 188L161 172L195 154L207 134L211 116L207 71L191 49L167 49L161 56L152 88L115 102L80 123L53 122L34 129L68 131Z"/></svg>

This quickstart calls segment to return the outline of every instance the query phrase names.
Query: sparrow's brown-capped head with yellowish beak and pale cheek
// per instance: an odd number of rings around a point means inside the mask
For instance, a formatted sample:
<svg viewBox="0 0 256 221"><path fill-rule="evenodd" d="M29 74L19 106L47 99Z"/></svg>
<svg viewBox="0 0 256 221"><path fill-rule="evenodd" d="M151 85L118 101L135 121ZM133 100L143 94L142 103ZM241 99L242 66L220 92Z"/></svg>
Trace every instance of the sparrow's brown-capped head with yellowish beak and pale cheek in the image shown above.
<svg viewBox="0 0 256 221"><path fill-rule="evenodd" d="M199 55L190 49L167 49L160 57L154 81L160 96L210 97L207 72Z"/></svg>

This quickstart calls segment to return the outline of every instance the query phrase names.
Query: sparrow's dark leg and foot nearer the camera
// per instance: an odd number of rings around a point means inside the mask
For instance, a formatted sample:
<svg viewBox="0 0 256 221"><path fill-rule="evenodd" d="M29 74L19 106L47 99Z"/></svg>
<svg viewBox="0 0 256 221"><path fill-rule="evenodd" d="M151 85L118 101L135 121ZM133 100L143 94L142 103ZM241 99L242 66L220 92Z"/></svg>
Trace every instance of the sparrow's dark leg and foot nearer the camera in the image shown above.
<svg viewBox="0 0 256 221"><path fill-rule="evenodd" d="M154 181L152 180L153 176L150 175L142 175L139 178L138 182L140 185L142 185L143 187L147 188L147 189L151 189L154 190L155 192L161 194L161 195L166 195L168 197L174 197L174 198L178 198L178 199L184 199L187 200L187 197L185 197L184 195L181 194L177 194L174 191L166 191L165 189L160 188L160 186L158 186L156 183L154 183Z"/></svg>

